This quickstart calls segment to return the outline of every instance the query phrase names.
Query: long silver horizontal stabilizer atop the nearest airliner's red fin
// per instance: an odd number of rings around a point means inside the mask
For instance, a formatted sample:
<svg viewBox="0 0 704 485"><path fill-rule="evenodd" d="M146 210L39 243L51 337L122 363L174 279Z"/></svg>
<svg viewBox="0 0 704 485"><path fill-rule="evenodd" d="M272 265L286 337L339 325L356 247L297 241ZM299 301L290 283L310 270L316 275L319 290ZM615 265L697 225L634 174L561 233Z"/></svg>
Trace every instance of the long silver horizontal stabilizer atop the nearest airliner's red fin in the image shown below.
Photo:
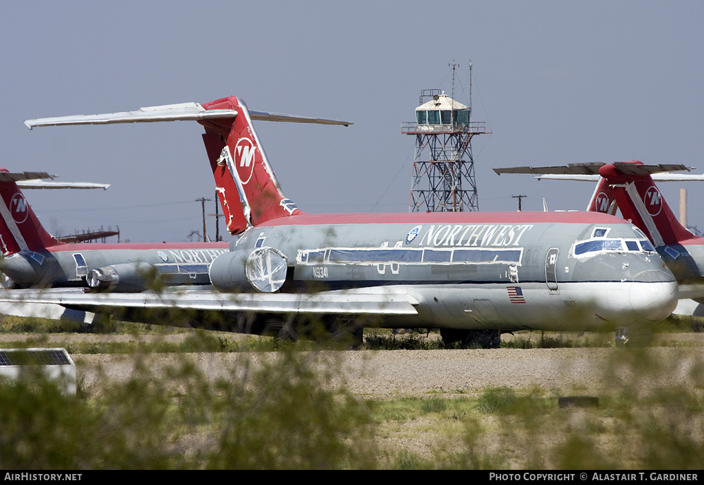
<svg viewBox="0 0 704 485"><path fill-rule="evenodd" d="M250 111L252 120L286 121L296 123L318 123L320 125L351 125L348 121L326 120L324 118L307 118L305 116L284 115L282 113L268 113L267 111ZM32 130L36 126L58 125L110 125L112 123L135 123L156 121L180 120L212 120L220 118L234 118L237 110L212 109L206 110L199 103L167 104L164 106L149 106L139 108L137 111L123 111L121 113L103 113L99 115L70 115L55 118L37 118L25 120L27 128Z"/></svg>

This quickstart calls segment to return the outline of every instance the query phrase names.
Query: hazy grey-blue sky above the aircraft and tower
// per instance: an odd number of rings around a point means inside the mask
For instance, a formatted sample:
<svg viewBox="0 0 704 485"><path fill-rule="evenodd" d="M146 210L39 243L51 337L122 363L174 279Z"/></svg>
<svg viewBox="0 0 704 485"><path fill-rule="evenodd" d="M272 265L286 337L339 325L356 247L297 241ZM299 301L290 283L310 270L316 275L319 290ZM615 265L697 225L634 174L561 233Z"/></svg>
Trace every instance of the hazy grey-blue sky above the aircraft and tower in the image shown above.
<svg viewBox="0 0 704 485"><path fill-rule="evenodd" d="M39 127L46 116L240 96L354 122L255 122L307 212L405 212L421 89L451 91L493 132L473 140L481 210L584 209L593 186L491 168L641 160L704 172L701 1L32 1L0 6L1 166L107 191L27 191L51 232L119 226L184 241L214 182L196 122ZM704 182L689 223L704 229ZM662 184L677 212L679 185ZM213 213L214 202L206 206ZM208 234L214 237L213 218Z"/></svg>

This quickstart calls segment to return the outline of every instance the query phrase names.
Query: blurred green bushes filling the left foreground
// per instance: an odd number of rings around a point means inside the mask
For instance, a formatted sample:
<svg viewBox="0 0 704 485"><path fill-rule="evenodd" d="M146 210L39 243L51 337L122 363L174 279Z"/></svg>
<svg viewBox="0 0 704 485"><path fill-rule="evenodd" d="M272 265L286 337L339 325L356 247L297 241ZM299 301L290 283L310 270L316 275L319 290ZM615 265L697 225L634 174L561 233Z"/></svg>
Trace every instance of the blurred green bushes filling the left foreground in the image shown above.
<svg viewBox="0 0 704 485"><path fill-rule="evenodd" d="M238 360L210 382L188 360L68 396L37 373L0 384L4 470L369 468L369 412L328 385L321 355ZM29 377L29 376L28 376Z"/></svg>

